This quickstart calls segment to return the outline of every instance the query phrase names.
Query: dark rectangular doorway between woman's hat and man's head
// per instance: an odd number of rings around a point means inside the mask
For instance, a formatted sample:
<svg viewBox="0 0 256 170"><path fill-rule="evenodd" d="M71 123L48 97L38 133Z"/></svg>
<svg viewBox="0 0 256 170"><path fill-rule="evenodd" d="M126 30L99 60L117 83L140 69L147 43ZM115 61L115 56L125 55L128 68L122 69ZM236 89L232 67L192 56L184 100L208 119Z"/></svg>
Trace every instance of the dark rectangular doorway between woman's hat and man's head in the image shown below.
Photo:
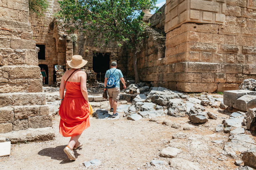
<svg viewBox="0 0 256 170"><path fill-rule="evenodd" d="M109 69L110 54L96 52L92 57L92 69L97 74L98 81L104 81L105 73ZM101 75L100 75L101 72Z"/></svg>

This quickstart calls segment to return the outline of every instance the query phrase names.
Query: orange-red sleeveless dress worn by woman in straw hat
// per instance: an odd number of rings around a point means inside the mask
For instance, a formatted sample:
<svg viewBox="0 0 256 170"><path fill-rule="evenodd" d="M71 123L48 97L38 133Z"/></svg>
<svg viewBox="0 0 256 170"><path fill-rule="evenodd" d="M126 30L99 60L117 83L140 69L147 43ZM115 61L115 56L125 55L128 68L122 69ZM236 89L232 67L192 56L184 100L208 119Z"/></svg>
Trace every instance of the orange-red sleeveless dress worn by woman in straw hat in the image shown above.
<svg viewBox="0 0 256 170"><path fill-rule="evenodd" d="M66 83L66 93L59 109L60 134L64 137L81 134L90 127L88 103L81 92L80 82Z"/></svg>

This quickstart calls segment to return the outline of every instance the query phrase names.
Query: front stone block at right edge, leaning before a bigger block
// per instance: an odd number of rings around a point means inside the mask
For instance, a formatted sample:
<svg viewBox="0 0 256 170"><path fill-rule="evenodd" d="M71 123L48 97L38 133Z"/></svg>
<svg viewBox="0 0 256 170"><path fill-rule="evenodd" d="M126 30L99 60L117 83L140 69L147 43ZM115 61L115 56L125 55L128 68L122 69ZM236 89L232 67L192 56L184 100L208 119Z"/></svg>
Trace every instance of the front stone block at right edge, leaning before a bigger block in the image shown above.
<svg viewBox="0 0 256 170"><path fill-rule="evenodd" d="M256 107L256 96L244 95L236 99L233 108L248 111Z"/></svg>

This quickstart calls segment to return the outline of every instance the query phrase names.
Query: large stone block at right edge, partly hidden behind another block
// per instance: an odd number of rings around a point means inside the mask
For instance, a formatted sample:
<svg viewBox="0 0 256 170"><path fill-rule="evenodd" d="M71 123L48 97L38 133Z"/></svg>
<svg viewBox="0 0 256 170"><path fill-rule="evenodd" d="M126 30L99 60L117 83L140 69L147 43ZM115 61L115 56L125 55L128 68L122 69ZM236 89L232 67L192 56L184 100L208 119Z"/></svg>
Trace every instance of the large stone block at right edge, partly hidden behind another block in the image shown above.
<svg viewBox="0 0 256 170"><path fill-rule="evenodd" d="M232 107L236 101L236 99L244 96L244 95L254 95L256 96L255 91L249 91L249 90L229 90L224 91L223 93L223 103L226 106Z"/></svg>

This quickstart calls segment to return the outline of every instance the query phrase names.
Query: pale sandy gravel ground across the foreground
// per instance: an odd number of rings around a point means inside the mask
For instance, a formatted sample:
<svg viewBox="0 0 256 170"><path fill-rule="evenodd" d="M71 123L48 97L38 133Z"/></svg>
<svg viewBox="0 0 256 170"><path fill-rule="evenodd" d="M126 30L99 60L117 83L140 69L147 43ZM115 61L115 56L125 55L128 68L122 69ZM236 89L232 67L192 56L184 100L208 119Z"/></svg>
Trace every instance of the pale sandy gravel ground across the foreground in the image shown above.
<svg viewBox="0 0 256 170"><path fill-rule="evenodd" d="M69 160L63 151L70 138L59 134L60 117L57 115L53 118L55 140L12 144L11 155L0 157L0 169L86 169L83 162L98 159L101 165L87 169L176 170L168 164L170 158L159 157L160 151L167 146L180 148L183 152L177 156L178 158L196 162L202 169L236 168L234 159L220 155L224 144L228 142L229 134L215 132L215 127L223 121L220 117L228 118L230 113L210 107L206 107L206 111L213 112L219 118L209 119L207 123L200 125L191 124L187 115L183 118L166 115L158 117L157 122L151 122L146 118L131 121L122 116L119 120L92 118L90 119L91 126L82 133L79 139L84 145L74 151L76 161ZM163 125L162 122L165 120L170 120L180 125L181 128ZM183 127L191 127L191 130L183 130ZM178 132L186 133L187 137L173 139L172 136ZM197 137L197 140L206 144L208 149L193 149L188 136ZM256 142L255 136L251 137ZM223 140L223 143L216 144L211 142L212 140ZM164 164L151 166L150 161L154 158L164 161ZM222 158L224 161L219 161L217 158Z"/></svg>

